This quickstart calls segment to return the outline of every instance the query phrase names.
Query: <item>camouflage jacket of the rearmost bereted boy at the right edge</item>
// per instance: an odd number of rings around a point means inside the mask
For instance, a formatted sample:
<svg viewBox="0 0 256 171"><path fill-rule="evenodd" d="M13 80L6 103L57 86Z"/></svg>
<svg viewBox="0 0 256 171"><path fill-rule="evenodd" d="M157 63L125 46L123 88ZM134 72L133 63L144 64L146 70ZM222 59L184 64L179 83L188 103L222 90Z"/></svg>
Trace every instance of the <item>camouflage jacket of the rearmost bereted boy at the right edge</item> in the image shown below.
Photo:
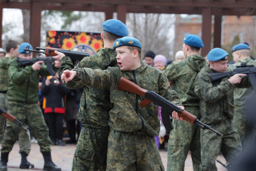
<svg viewBox="0 0 256 171"><path fill-rule="evenodd" d="M242 59L241 61L238 61L235 64L229 65L230 70L236 69L236 66L241 66L242 63L246 63L247 65L254 65L256 66L256 61L251 59L251 58L245 58ZM245 103L247 102L247 99L249 99L255 90L253 87L250 87L248 89L234 89L234 105L235 107L244 107ZM243 110L243 109L241 109Z"/></svg>

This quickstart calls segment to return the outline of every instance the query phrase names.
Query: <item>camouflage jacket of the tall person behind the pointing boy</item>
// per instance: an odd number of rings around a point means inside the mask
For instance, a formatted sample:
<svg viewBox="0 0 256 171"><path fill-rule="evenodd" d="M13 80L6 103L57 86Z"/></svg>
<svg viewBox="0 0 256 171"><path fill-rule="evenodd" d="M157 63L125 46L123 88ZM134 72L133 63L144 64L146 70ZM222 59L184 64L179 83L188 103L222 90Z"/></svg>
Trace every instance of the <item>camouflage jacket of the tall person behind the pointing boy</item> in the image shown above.
<svg viewBox="0 0 256 171"><path fill-rule="evenodd" d="M111 48L100 49L96 54L83 58L77 68L92 68L106 70L108 67L117 65L116 52ZM74 68L69 57L61 59L61 73L64 70L72 70ZM60 73L60 74L61 74ZM86 126L93 128L108 126L109 111L112 108L110 103L109 90L90 89L81 82L71 80L64 84L70 89L78 89L84 87L82 97L80 100L80 108L77 113L77 118Z"/></svg>

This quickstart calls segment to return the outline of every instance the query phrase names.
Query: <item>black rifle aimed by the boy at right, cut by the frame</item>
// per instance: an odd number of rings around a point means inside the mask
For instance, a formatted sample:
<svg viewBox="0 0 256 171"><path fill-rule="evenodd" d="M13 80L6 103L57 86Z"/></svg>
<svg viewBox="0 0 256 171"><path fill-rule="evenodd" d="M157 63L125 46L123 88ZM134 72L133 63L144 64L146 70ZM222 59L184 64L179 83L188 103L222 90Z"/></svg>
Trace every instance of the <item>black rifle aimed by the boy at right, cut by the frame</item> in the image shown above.
<svg viewBox="0 0 256 171"><path fill-rule="evenodd" d="M246 65L246 64L241 64L241 66L237 66L236 69L234 69L233 71L230 72L226 72L226 73L209 73L211 76L211 82L214 82L218 79L223 79L226 77L231 77L235 74L247 74L252 87L254 88L254 90L256 90L256 77L255 77L255 73L256 73L256 67L254 65Z"/></svg>

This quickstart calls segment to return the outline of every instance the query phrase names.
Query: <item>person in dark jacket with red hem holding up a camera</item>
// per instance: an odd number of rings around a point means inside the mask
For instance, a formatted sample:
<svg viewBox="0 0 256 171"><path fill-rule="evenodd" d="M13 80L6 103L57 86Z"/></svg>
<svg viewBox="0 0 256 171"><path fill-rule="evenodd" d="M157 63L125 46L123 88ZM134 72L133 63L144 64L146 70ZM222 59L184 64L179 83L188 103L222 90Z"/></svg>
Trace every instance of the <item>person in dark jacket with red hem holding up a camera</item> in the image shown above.
<svg viewBox="0 0 256 171"><path fill-rule="evenodd" d="M56 72L55 76L50 76L43 82L41 92L46 98L44 113L48 121L52 145L65 145L62 140L65 114L64 97L70 92L70 89L61 82L58 72Z"/></svg>

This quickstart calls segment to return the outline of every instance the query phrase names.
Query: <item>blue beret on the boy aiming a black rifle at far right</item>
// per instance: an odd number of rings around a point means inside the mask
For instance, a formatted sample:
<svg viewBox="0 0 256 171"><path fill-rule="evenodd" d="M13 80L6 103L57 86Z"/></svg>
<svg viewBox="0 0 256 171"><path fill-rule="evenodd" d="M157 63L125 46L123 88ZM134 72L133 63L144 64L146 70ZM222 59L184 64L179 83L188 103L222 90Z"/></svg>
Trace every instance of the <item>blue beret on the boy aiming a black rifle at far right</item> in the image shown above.
<svg viewBox="0 0 256 171"><path fill-rule="evenodd" d="M209 61L226 61L229 58L229 54L228 52L224 51L221 48L214 48L211 51L209 51L208 55L207 55L207 59Z"/></svg>

